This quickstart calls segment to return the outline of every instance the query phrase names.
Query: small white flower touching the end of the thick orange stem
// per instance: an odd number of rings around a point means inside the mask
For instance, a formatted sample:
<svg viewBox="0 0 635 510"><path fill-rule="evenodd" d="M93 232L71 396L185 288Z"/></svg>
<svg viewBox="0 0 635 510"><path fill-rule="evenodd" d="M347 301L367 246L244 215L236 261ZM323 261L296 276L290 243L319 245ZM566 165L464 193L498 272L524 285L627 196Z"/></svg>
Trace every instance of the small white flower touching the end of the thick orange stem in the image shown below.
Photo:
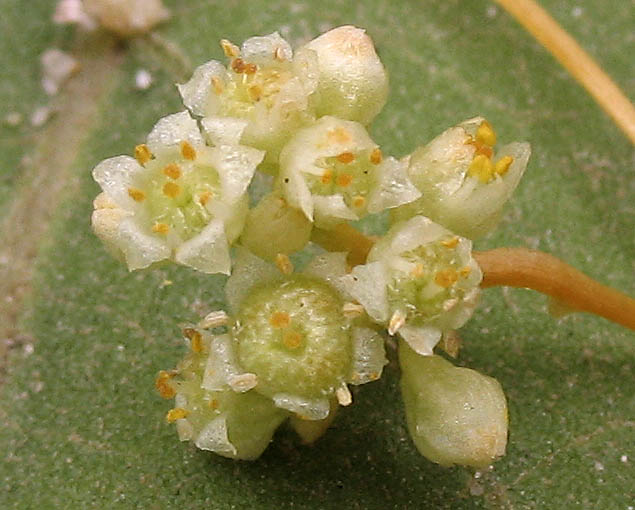
<svg viewBox="0 0 635 510"><path fill-rule="evenodd" d="M430 355L445 331L470 318L482 273L472 243L423 216L393 226L364 265L340 278L368 315Z"/></svg>

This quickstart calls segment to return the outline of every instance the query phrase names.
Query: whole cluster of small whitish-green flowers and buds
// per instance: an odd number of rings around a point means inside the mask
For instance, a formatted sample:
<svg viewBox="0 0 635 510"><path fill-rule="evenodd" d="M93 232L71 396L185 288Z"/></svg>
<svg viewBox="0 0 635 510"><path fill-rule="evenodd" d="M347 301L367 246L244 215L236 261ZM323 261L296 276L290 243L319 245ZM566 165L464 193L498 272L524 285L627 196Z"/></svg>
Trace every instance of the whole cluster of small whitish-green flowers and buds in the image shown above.
<svg viewBox="0 0 635 510"><path fill-rule="evenodd" d="M355 27L296 51L277 33L221 47L227 65L207 62L178 85L184 111L159 120L134 157L93 171L94 231L129 270L172 261L229 275L227 309L185 328L188 354L156 380L175 399L167 421L236 459L257 458L283 422L315 441L352 403L350 385L381 376L386 335L398 335L417 448L443 465L488 464L507 437L500 385L434 349L476 307L471 239L495 226L528 145L495 151L478 117L387 155L367 131L387 74ZM256 171L272 187L250 207ZM391 227L363 264L342 249L294 270L290 254L386 210Z"/></svg>

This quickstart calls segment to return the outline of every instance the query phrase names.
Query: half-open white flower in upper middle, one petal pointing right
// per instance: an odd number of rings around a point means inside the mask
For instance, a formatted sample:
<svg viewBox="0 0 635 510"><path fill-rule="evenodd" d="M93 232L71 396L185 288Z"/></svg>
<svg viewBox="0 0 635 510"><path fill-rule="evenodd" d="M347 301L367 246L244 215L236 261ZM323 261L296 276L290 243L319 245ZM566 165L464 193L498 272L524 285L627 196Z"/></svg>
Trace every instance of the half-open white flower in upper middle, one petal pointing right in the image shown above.
<svg viewBox="0 0 635 510"><path fill-rule="evenodd" d="M298 131L284 147L277 186L290 205L322 228L421 196L405 165L384 157L364 126L328 116Z"/></svg>

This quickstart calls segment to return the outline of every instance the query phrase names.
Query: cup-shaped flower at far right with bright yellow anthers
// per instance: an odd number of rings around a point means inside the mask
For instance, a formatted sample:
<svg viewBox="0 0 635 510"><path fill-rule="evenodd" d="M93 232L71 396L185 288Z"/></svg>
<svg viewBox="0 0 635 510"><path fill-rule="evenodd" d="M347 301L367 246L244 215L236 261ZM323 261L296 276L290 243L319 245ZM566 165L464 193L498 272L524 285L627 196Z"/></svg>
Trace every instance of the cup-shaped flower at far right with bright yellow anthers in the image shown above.
<svg viewBox="0 0 635 510"><path fill-rule="evenodd" d="M495 145L492 126L476 117L418 148L406 161L410 179L423 197L393 211L394 220L423 214L470 239L492 230L531 153L528 143L494 151Z"/></svg>

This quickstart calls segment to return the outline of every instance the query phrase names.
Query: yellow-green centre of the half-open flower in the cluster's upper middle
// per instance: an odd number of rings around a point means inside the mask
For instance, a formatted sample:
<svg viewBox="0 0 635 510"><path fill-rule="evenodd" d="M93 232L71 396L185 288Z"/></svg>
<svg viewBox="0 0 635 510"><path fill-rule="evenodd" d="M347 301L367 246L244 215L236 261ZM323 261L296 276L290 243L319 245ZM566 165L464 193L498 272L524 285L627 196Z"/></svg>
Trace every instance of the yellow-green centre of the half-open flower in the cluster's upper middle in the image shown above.
<svg viewBox="0 0 635 510"><path fill-rule="evenodd" d="M372 185L371 153L371 150L345 152L318 160L316 165L324 168L324 173L307 176L309 190L313 195L342 195L352 210L365 210Z"/></svg>

